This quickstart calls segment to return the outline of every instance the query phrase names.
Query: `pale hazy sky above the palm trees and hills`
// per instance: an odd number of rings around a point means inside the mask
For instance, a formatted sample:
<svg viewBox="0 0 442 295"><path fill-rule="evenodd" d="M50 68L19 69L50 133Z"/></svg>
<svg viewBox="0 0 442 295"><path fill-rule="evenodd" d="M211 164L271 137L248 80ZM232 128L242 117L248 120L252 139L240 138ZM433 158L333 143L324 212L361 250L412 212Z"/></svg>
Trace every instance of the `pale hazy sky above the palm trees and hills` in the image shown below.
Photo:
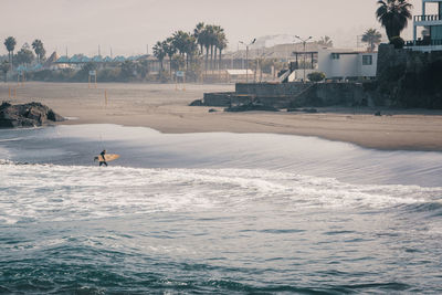
<svg viewBox="0 0 442 295"><path fill-rule="evenodd" d="M421 0L411 0L413 14ZM229 45L272 34L330 35L337 46L355 46L368 28L379 29L377 0L1 0L0 40L18 46L41 39L46 51L114 56L146 53L146 46L199 21L225 29ZM403 36L411 38L412 24ZM383 33L383 30L382 30ZM1 42L3 43L3 42ZM7 53L3 45L0 54Z"/></svg>

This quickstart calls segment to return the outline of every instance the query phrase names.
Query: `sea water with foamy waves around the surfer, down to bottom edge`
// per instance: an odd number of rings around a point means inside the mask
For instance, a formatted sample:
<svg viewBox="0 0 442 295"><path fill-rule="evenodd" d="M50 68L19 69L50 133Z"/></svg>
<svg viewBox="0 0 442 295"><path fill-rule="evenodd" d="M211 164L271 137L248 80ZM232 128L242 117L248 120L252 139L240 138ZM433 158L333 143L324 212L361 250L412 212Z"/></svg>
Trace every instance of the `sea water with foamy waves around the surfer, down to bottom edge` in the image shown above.
<svg viewBox="0 0 442 295"><path fill-rule="evenodd" d="M78 125L0 159L0 293L442 292L440 152Z"/></svg>

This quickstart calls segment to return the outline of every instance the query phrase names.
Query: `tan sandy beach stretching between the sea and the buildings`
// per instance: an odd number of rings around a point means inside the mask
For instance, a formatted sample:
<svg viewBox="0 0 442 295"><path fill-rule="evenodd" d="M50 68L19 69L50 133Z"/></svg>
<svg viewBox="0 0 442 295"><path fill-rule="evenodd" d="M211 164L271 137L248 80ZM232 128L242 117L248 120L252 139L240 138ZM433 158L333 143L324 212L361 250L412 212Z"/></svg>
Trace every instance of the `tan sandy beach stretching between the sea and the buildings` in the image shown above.
<svg viewBox="0 0 442 295"><path fill-rule="evenodd" d="M9 99L9 88L11 98ZM14 89L17 88L17 97ZM377 149L442 150L442 112L324 108L304 113L209 113L188 106L206 92L234 91L234 85L12 83L0 85L2 101L41 102L70 120L62 124L145 126L162 133L276 133L317 136ZM105 102L107 94L107 105Z"/></svg>

